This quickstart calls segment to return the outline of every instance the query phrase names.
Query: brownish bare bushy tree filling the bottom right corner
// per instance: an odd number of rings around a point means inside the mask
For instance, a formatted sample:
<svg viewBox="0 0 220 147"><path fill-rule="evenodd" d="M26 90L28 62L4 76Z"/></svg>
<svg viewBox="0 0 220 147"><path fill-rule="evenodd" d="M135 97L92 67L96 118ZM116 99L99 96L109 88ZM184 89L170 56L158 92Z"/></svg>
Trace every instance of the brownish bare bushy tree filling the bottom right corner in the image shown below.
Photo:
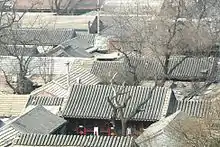
<svg viewBox="0 0 220 147"><path fill-rule="evenodd" d="M189 117L174 121L169 125L169 134L178 146L189 147L218 147L219 140L219 99L212 101L208 115L204 118Z"/></svg>

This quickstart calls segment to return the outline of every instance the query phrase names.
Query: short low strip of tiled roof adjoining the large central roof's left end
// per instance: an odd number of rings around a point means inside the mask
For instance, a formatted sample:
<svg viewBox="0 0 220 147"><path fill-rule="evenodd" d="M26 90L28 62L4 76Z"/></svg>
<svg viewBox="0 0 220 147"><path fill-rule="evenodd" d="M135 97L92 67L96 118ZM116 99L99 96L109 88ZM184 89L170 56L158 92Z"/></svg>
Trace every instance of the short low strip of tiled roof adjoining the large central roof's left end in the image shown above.
<svg viewBox="0 0 220 147"><path fill-rule="evenodd" d="M60 97L30 96L26 107L28 105L60 106L63 99Z"/></svg>

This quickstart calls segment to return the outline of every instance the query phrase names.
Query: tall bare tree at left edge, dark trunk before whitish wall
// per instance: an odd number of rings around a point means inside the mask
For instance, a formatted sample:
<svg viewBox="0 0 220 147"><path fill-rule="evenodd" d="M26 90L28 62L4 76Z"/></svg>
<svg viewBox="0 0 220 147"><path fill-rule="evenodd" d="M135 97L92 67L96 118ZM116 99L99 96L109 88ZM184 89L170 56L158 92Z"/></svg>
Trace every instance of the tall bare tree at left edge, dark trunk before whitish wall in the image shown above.
<svg viewBox="0 0 220 147"><path fill-rule="evenodd" d="M26 14L16 13L14 5L8 6L8 0L1 4L0 17L0 48L6 58L1 58L1 71L4 74L6 83L16 94L26 94L33 90L33 82L28 79L29 73L37 68L37 64L30 64L33 56L37 56L37 45L40 40L25 40L21 32L17 31L17 25ZM34 7L34 5L32 5ZM30 46L30 44L32 44ZM10 63L4 63L10 62ZM4 67L3 67L4 66ZM16 80L12 79L15 77Z"/></svg>

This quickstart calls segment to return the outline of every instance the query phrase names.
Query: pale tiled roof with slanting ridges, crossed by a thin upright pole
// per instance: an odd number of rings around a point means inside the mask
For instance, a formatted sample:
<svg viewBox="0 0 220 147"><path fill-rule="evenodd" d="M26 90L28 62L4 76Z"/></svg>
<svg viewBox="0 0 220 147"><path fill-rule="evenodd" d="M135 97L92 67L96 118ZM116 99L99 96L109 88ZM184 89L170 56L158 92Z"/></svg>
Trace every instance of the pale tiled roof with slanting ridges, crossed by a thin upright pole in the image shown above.
<svg viewBox="0 0 220 147"><path fill-rule="evenodd" d="M74 67L74 70L70 71L69 83L71 85L77 84L77 78L80 79L80 82L83 85L96 85L100 82L95 75L81 67ZM65 74L34 90L31 95L41 95L42 92L44 92L50 96L67 97L69 94L68 88L67 74Z"/></svg>

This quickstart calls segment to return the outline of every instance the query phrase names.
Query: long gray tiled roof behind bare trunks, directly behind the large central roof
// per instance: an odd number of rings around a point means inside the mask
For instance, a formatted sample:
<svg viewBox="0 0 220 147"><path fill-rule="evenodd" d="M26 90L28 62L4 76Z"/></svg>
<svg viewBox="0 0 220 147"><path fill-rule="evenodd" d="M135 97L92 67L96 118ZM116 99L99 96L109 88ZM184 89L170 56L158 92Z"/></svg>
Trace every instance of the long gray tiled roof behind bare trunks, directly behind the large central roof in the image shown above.
<svg viewBox="0 0 220 147"><path fill-rule="evenodd" d="M173 56L170 58L169 70L175 67L184 59L184 56ZM162 60L163 61L163 60ZM135 66L136 74L139 80L154 79L155 76L163 76L163 67L155 58L131 58L131 63ZM200 80L202 79L202 71L207 70L208 75L212 75L215 70L216 60L213 57L190 57L186 58L178 65L169 75L172 80ZM91 69L91 73L100 77L103 81L109 81L117 72L116 80L118 82L131 81L128 65L125 61L95 61Z"/></svg>

